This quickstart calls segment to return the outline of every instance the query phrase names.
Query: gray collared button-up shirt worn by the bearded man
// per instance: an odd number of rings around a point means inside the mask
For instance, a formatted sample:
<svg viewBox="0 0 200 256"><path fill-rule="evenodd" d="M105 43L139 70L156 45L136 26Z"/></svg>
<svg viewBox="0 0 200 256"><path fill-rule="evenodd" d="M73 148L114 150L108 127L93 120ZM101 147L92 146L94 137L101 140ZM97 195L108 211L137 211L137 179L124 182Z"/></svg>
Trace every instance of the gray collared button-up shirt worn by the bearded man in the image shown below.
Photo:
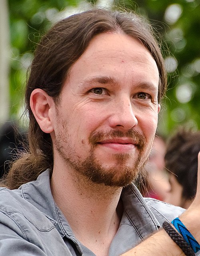
<svg viewBox="0 0 200 256"><path fill-rule="evenodd" d="M50 190L50 172L17 190L0 188L0 256L94 256L74 236L56 206ZM124 213L109 256L136 246L184 211L182 208L143 198L131 184L122 190Z"/></svg>

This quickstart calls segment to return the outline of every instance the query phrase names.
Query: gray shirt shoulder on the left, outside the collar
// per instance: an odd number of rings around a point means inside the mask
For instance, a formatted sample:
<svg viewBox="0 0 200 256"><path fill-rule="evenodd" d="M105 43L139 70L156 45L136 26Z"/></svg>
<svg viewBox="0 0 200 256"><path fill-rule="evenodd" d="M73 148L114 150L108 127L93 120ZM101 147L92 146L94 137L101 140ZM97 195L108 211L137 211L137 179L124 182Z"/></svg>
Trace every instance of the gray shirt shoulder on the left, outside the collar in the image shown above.
<svg viewBox="0 0 200 256"><path fill-rule="evenodd" d="M56 224L20 189L0 188L0 255L71 255Z"/></svg>

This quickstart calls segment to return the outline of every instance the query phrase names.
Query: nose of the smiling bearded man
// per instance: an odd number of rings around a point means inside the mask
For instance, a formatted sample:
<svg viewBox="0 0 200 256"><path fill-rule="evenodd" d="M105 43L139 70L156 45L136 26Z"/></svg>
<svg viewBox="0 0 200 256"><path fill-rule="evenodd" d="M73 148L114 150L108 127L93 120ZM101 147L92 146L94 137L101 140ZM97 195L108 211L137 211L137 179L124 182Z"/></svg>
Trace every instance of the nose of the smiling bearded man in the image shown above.
<svg viewBox="0 0 200 256"><path fill-rule="evenodd" d="M130 99L121 99L115 102L112 115L110 116L110 127L129 130L138 124L138 118L133 110Z"/></svg>

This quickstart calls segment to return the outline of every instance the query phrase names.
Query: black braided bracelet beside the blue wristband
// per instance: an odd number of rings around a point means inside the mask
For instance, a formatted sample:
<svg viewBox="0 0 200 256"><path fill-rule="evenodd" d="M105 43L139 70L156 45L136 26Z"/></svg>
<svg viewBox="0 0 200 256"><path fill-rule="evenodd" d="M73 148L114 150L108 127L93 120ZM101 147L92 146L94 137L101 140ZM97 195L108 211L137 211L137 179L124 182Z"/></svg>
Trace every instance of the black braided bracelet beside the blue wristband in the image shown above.
<svg viewBox="0 0 200 256"><path fill-rule="evenodd" d="M162 227L167 232L167 234L172 238L172 240L180 247L180 249L184 252L186 256L195 256L194 251L189 246L189 244L172 228L170 223L164 222Z"/></svg>

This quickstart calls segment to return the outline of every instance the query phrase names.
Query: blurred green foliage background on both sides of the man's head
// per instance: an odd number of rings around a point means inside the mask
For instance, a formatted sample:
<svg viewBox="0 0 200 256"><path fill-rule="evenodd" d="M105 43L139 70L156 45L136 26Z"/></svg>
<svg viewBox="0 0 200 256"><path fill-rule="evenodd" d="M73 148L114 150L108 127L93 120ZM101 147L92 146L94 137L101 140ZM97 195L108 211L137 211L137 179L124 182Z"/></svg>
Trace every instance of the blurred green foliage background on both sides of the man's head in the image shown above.
<svg viewBox="0 0 200 256"><path fill-rule="evenodd" d="M84 2L90 2L91 6L100 4L97 0ZM56 17L63 18L63 11L77 7L80 0L9 0L8 4L10 118L15 119L22 111L26 70L40 36L56 21ZM176 59L174 65L177 68L173 70L172 65L168 73L168 92L162 102L158 132L168 135L183 124L200 129L200 0L114 0L112 8L134 10L147 18L155 32L162 35L166 60L169 57L172 61ZM175 16L180 11L174 22L166 18L173 8Z"/></svg>

